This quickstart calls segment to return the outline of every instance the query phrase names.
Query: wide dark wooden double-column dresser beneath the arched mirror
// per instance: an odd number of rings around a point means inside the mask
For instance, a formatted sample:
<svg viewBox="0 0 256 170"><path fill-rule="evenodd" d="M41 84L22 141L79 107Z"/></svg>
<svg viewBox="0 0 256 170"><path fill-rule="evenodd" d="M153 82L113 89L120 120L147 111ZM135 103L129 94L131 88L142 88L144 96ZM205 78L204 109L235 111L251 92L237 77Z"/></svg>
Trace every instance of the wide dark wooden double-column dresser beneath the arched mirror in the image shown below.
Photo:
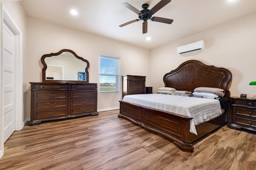
<svg viewBox="0 0 256 170"><path fill-rule="evenodd" d="M82 115L98 115L96 83L30 82L28 125Z"/></svg>

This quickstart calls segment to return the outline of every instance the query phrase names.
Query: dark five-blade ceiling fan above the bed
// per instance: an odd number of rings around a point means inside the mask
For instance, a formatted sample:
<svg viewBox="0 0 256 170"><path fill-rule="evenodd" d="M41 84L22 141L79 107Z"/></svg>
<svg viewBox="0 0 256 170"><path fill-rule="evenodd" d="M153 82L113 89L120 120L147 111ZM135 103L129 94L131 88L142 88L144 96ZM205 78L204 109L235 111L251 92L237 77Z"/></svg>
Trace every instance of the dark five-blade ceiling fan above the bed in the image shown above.
<svg viewBox="0 0 256 170"><path fill-rule="evenodd" d="M122 25L119 25L119 27L123 27L125 25L130 24L130 23L134 23L134 22L143 20L144 22L142 23L142 33L147 33L148 32L148 22L147 22L147 20L171 24L172 21L173 21L171 19L161 18L161 17L152 17L153 14L155 14L158 10L160 10L161 8L166 6L169 2L171 2L171 0L161 0L151 10L148 10L148 7L149 7L148 4L143 4L142 5L143 10L141 10L141 11L137 10L136 8L134 8L133 6L131 6L128 3L124 3L122 5L125 6L126 8L128 8L128 9L132 10L136 14L138 14L139 19L126 22Z"/></svg>

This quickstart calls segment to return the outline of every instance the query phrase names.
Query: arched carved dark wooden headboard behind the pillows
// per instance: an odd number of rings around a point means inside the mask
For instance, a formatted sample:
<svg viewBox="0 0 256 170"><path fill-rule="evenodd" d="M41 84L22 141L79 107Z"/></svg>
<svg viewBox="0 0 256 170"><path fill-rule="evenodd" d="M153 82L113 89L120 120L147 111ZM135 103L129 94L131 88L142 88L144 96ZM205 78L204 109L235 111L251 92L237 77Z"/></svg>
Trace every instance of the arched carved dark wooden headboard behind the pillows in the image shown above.
<svg viewBox="0 0 256 170"><path fill-rule="evenodd" d="M193 92L197 87L214 87L225 90L224 98L230 97L232 74L226 68L209 66L201 61L186 61L164 75L165 87Z"/></svg>

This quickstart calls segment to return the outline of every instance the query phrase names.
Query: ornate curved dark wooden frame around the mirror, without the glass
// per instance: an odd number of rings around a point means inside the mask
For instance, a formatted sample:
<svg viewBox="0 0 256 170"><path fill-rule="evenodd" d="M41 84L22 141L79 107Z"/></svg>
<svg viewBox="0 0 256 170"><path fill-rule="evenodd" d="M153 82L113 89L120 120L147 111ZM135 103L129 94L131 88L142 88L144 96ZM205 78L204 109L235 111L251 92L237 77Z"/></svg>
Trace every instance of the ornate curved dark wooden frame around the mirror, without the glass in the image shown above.
<svg viewBox="0 0 256 170"><path fill-rule="evenodd" d="M85 63L87 63L87 66L85 68L85 72L86 72L86 80L85 81L76 81L76 80L47 80L46 79L46 69L47 69L47 64L45 62L46 57L52 57L52 56L58 56L61 55L63 52L70 52L72 53L77 59L80 59L82 61L84 61ZM57 53L50 53L50 54L45 54L42 55L41 57L41 62L43 64L43 69L42 69L42 82L80 82L80 83L89 83L89 72L88 72L88 68L90 66L88 60L78 56L74 51L70 50L70 49L62 49L60 51L58 51ZM78 75L76 75L78 76Z"/></svg>

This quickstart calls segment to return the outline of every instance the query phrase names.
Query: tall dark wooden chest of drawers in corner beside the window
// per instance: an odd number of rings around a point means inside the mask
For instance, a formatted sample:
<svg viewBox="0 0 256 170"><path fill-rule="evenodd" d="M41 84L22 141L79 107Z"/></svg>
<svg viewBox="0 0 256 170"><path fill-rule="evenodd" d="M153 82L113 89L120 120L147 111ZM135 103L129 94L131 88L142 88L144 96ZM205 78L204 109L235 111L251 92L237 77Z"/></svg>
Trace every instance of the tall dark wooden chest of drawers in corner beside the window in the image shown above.
<svg viewBox="0 0 256 170"><path fill-rule="evenodd" d="M146 76L122 76L122 98L130 94L145 94Z"/></svg>

